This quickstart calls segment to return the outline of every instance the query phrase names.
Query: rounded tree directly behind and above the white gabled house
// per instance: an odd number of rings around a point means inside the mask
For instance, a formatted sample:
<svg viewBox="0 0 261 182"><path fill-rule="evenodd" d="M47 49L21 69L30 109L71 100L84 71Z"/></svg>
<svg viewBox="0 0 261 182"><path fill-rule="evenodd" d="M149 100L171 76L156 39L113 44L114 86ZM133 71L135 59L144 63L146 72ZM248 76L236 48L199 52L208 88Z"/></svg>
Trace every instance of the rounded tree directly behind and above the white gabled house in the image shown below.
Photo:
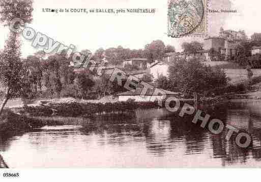
<svg viewBox="0 0 261 182"><path fill-rule="evenodd" d="M162 41L153 41L151 44L145 46L144 52L149 62L155 60L162 60L164 56L165 45Z"/></svg>

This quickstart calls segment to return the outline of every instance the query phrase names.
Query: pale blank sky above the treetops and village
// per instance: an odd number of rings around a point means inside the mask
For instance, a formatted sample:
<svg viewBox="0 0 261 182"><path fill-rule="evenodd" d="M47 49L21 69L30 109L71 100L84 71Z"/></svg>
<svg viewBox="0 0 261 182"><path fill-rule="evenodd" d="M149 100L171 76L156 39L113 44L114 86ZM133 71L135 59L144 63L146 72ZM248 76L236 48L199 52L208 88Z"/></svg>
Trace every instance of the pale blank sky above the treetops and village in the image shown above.
<svg viewBox="0 0 261 182"><path fill-rule="evenodd" d="M208 35L218 35L224 29L243 29L250 37L261 32L258 26L261 11L259 0L251 3L243 0L209 0L209 9L236 9L238 13L209 13ZM156 8L155 14L106 14L106 13L44 13L43 8ZM202 38L169 38L167 32L167 0L35 0L33 22L28 26L65 45L73 44L77 50L123 46L142 49L154 40L162 40L182 51L183 42L199 41ZM0 49L4 48L8 27L0 26ZM31 46L32 42L22 40L22 57L41 49Z"/></svg>

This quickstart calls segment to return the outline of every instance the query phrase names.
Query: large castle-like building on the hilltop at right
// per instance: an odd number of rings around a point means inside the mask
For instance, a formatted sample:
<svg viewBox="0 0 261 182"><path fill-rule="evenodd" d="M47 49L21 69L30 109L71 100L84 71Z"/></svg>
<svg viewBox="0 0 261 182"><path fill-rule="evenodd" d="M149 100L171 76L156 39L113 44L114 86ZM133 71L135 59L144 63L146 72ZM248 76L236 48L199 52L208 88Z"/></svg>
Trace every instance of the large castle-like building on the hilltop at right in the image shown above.
<svg viewBox="0 0 261 182"><path fill-rule="evenodd" d="M247 38L244 31L224 30L221 28L219 37L208 37L205 39L204 50L213 48L216 52L223 54L226 60L233 60L236 55L237 45L245 39Z"/></svg>

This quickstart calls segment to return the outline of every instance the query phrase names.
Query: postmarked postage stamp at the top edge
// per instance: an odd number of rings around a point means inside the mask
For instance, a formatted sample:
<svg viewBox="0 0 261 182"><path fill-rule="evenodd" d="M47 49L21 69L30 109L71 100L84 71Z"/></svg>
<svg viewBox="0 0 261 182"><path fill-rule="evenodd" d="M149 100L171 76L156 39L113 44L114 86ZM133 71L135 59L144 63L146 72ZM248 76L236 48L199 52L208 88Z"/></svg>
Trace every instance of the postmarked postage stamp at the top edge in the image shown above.
<svg viewBox="0 0 261 182"><path fill-rule="evenodd" d="M168 36L207 34L208 0L168 0Z"/></svg>

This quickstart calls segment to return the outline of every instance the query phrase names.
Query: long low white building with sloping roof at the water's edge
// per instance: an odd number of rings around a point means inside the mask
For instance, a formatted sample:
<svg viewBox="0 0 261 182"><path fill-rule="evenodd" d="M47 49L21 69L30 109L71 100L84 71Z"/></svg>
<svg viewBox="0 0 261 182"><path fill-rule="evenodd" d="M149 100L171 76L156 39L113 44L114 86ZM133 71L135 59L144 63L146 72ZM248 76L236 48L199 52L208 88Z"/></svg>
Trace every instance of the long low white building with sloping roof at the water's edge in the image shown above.
<svg viewBox="0 0 261 182"><path fill-rule="evenodd" d="M165 93L165 95L163 94L159 94L159 93L155 93L153 90L149 89L148 92L144 95L141 96L140 93L142 91L142 88L137 88L135 90L135 92L132 91L127 91L127 92L123 92L123 93L119 93L119 101L127 101L128 99L134 99L135 101L138 102L148 102L148 101L152 101L154 102L155 100L163 100L166 96L170 97L170 96L179 96L178 92L171 92L171 91L167 91L167 90L163 90L160 89L162 91L162 93Z"/></svg>

